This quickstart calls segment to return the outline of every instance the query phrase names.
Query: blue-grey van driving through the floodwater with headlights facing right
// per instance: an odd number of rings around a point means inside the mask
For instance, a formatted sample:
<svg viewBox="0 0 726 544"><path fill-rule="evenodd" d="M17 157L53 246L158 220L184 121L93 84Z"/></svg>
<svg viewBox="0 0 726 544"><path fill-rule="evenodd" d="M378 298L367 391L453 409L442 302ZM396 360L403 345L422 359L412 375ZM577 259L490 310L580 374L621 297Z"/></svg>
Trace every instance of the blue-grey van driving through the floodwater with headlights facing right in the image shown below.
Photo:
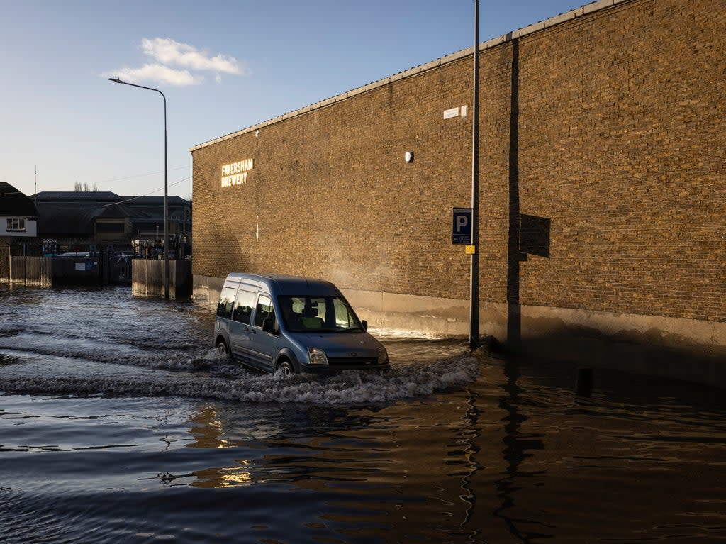
<svg viewBox="0 0 726 544"><path fill-rule="evenodd" d="M333 283L233 272L213 338L220 354L266 372L386 370L388 352L367 328Z"/></svg>

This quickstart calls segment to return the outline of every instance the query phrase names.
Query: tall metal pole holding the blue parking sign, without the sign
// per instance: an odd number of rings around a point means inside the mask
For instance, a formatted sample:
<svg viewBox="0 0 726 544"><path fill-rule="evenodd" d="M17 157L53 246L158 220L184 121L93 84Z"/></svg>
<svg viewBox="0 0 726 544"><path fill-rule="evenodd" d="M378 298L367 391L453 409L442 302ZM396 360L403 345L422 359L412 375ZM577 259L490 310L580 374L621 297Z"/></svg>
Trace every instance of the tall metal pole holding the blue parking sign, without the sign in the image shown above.
<svg viewBox="0 0 726 544"><path fill-rule="evenodd" d="M474 0L474 96L471 158L471 254L469 345L479 345L479 0Z"/></svg>

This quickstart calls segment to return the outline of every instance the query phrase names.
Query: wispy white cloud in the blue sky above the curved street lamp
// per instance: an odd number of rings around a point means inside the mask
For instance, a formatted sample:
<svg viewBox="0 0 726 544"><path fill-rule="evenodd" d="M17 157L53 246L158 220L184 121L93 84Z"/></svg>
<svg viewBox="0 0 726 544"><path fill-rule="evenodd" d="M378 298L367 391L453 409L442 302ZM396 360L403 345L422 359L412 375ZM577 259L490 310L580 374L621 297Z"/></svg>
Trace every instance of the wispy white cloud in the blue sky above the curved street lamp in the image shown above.
<svg viewBox="0 0 726 544"><path fill-rule="evenodd" d="M223 54L212 57L207 52L187 44L180 44L171 38L142 38L139 49L156 62L145 64L141 68L121 68L102 75L121 78L129 83L139 84L143 81L152 81L176 86L202 83L205 81L204 76L194 73L199 71L212 72L214 81L217 83L221 83L222 73L250 75L247 65L234 57L227 57ZM179 68L171 68L172 66Z"/></svg>

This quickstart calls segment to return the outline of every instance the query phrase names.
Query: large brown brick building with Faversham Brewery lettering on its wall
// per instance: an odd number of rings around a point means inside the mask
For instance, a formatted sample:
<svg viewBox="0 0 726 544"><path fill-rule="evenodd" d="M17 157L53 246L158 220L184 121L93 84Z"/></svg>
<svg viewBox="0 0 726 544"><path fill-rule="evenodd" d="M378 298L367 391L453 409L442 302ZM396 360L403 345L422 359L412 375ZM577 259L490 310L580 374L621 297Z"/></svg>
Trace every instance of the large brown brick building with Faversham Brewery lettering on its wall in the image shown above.
<svg viewBox="0 0 726 544"><path fill-rule="evenodd" d="M603 0L479 49L481 332L725 385L725 2ZM473 48L192 148L195 295L311 275L376 326L467 333L472 81Z"/></svg>

